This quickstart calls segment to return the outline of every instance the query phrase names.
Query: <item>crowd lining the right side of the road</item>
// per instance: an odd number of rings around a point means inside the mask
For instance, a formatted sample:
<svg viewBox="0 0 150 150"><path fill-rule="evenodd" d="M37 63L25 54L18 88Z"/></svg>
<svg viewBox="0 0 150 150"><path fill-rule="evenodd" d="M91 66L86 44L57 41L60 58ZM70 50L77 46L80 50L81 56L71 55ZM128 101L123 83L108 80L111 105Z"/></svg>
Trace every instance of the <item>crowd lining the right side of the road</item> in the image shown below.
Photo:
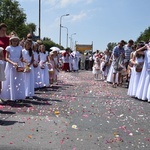
<svg viewBox="0 0 150 150"><path fill-rule="evenodd" d="M121 40L111 53L97 51L93 59L95 80L100 75L113 88L127 82L129 96L150 102L150 41L134 44L129 40L126 44Z"/></svg>

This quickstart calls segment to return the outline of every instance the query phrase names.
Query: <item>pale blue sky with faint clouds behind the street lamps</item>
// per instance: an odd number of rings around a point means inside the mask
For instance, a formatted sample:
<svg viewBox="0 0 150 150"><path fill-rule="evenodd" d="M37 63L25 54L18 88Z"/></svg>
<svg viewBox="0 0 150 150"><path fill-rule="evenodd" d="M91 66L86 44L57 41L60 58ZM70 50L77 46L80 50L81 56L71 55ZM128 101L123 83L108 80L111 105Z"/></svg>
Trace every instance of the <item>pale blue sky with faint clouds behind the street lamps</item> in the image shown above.
<svg viewBox="0 0 150 150"><path fill-rule="evenodd" d="M27 15L27 23L39 27L38 1L18 0ZM41 37L59 43L60 17L68 28L73 44L92 44L93 50L105 50L109 42L136 40L150 26L150 0L41 0ZM61 29L61 44L66 47L67 30ZM71 45L68 38L68 46Z"/></svg>

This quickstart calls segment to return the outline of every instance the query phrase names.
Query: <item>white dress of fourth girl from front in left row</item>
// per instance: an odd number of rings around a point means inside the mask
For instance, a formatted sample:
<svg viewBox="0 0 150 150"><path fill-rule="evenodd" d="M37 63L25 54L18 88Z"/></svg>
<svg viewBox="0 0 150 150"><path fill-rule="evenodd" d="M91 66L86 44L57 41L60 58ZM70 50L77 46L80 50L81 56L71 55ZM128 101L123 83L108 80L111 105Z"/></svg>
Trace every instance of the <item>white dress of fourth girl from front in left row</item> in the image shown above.
<svg viewBox="0 0 150 150"><path fill-rule="evenodd" d="M48 65L47 64L43 64L43 62L45 62L47 60L47 54L45 53L39 53L40 55L40 66L41 64L44 66L43 69L41 69L40 67L40 74L41 74L41 87L45 87L45 86L49 86L49 73L48 73Z"/></svg>

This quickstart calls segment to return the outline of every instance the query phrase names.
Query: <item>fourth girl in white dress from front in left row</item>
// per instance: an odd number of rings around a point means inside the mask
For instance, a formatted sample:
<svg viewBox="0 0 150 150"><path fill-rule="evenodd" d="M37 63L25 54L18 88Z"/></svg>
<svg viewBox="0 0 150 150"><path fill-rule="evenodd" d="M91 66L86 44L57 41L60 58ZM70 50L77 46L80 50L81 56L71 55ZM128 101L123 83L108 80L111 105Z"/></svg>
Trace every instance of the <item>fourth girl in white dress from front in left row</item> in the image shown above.
<svg viewBox="0 0 150 150"><path fill-rule="evenodd" d="M40 65L40 76L41 76L41 87L49 86L49 73L48 73L48 54L45 51L45 46L39 46L39 65Z"/></svg>

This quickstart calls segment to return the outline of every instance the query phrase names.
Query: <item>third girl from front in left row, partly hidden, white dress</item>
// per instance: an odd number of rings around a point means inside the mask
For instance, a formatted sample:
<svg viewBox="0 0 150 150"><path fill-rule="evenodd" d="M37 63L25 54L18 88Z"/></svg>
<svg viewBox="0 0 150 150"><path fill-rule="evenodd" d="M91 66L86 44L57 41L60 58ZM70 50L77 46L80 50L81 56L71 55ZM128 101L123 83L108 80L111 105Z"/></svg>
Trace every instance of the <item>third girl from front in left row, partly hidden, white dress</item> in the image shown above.
<svg viewBox="0 0 150 150"><path fill-rule="evenodd" d="M33 44L33 55L34 55L34 88L39 88L41 84L40 78L40 66L39 66L39 53L38 53L38 44L35 42Z"/></svg>

